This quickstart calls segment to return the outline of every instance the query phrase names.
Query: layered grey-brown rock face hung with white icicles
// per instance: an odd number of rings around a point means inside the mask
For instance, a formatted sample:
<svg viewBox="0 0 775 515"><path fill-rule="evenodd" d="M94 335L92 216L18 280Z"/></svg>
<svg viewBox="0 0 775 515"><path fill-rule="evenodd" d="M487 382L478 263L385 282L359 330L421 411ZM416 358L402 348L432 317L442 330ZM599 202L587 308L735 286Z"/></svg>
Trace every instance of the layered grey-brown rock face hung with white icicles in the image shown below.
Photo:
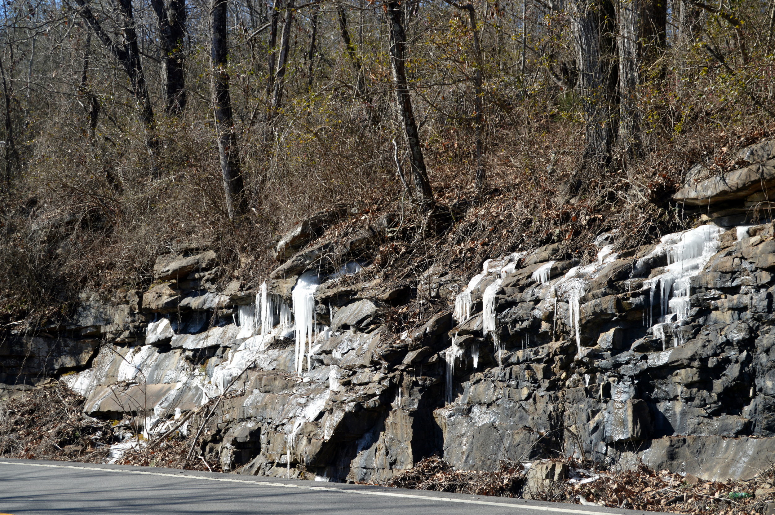
<svg viewBox="0 0 775 515"><path fill-rule="evenodd" d="M215 252L161 256L145 292L84 294L66 326L6 343L4 383L61 376L86 414L146 434L219 398L202 456L266 476L384 482L434 454L459 469L565 455L704 479L768 466L773 225L701 225L622 252L601 235L584 266L548 245L467 283L441 266L387 283L356 260L321 273L310 257L352 257L389 225L346 242L298 230L307 239L282 240L254 290L219 290ZM442 309L391 332L417 297Z"/></svg>

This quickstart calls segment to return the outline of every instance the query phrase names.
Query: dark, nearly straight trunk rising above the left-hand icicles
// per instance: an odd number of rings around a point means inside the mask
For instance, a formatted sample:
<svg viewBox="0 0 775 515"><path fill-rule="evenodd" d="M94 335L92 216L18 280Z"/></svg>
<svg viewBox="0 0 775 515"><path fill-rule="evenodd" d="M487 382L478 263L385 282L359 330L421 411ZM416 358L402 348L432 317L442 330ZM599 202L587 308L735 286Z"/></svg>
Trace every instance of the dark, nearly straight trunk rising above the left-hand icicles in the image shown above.
<svg viewBox="0 0 775 515"><path fill-rule="evenodd" d="M227 0L212 0L210 8L210 42L212 58L212 100L215 108L215 129L218 132L218 153L226 194L229 219L239 218L247 211L247 199L242 172L239 169L232 99L229 95L229 43L226 38Z"/></svg>

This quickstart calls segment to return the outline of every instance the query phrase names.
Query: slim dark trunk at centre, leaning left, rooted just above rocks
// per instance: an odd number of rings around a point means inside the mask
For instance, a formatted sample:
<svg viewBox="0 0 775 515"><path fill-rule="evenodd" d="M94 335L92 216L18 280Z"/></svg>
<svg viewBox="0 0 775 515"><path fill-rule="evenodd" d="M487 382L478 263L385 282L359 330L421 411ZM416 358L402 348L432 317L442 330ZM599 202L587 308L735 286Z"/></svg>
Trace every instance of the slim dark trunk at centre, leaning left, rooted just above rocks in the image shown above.
<svg viewBox="0 0 775 515"><path fill-rule="evenodd" d="M401 4L397 0L391 0L384 4L384 9L390 31L390 60L395 101L404 123L409 161L412 164L412 182L415 187L413 197L423 211L429 211L433 208L433 192L428 180L428 172L425 170L422 142L420 142L417 122L412 112L412 98L409 95L409 85L406 80L406 35L402 23Z"/></svg>

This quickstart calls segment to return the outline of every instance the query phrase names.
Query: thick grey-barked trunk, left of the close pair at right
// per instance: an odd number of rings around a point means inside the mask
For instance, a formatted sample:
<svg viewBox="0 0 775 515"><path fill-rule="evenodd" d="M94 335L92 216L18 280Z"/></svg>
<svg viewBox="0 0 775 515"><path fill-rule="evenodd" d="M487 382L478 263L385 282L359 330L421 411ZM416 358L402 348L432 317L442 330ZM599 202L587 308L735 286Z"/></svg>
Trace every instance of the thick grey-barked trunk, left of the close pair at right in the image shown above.
<svg viewBox="0 0 775 515"><path fill-rule="evenodd" d="M584 111L584 167L607 167L613 140L613 106L616 74L611 65L613 20L608 0L569 2L578 67L578 85Z"/></svg>

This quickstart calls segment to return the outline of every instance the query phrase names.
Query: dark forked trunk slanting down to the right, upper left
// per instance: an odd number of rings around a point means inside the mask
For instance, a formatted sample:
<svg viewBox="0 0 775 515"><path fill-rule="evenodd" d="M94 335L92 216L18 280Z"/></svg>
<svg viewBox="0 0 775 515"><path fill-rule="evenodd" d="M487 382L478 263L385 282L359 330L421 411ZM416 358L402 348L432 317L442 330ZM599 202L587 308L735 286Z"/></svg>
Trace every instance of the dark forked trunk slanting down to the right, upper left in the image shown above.
<svg viewBox="0 0 775 515"><path fill-rule="evenodd" d="M105 33L97 17L91 12L86 0L76 0L81 8L81 18L91 28L95 35L102 41L102 44L108 47L108 50L115 56L119 64L124 68L129 83L132 87L133 97L138 109L138 117L143 125L146 138L146 147L153 157L158 146L156 139L156 120L153 116L153 104L150 101L148 85L146 84L145 74L143 74L143 64L140 61L140 46L137 44L137 33L135 31L135 22L132 12L132 0L119 0L119 12L124 18L122 21L124 42L115 43L115 41Z"/></svg>

